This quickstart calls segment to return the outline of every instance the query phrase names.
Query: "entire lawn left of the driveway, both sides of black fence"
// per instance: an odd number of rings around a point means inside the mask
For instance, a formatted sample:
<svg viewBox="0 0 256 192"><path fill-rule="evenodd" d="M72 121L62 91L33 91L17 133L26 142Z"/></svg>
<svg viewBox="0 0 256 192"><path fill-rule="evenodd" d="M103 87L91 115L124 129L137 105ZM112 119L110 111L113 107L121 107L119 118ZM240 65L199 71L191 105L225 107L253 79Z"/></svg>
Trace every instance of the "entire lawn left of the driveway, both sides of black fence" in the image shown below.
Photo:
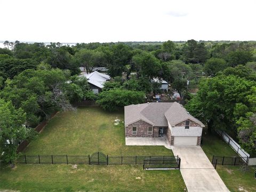
<svg viewBox="0 0 256 192"><path fill-rule="evenodd" d="M97 107L59 113L26 149L26 154L173 155L162 146L125 146L123 111ZM135 179L140 177L141 179ZM143 171L142 165L17 164L1 167L0 189L20 191L183 191L179 170Z"/></svg>

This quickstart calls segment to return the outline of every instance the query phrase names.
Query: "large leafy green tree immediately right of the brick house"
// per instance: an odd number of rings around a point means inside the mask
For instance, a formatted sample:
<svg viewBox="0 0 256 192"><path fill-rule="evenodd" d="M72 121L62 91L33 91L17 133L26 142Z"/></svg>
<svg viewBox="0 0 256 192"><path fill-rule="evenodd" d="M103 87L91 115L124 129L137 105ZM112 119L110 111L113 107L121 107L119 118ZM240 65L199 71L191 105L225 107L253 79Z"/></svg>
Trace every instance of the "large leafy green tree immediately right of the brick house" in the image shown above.
<svg viewBox="0 0 256 192"><path fill-rule="evenodd" d="M207 124L209 130L237 132L236 121L255 110L255 81L220 74L204 78L196 96L188 102L189 113Z"/></svg>

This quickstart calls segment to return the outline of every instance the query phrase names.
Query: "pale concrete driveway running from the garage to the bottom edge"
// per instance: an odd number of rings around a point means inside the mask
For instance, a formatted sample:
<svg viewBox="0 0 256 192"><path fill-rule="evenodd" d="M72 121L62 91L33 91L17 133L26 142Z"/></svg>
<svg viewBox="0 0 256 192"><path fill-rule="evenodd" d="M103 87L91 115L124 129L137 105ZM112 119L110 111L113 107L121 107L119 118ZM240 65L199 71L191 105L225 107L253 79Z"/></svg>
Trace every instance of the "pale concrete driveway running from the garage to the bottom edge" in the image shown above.
<svg viewBox="0 0 256 192"><path fill-rule="evenodd" d="M173 146L173 154L181 158L180 172L188 192L229 191L199 146Z"/></svg>

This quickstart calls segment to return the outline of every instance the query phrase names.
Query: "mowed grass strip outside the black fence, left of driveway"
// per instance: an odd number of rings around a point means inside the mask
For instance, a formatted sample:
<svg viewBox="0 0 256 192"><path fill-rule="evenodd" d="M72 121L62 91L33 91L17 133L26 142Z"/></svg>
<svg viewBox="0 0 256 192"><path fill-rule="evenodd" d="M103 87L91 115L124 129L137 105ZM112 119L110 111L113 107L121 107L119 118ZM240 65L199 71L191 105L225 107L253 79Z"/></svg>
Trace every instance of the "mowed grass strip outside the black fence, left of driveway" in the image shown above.
<svg viewBox="0 0 256 192"><path fill-rule="evenodd" d="M140 179L136 179L140 177ZM135 165L19 164L1 173L1 189L20 191L184 191L179 170L143 171Z"/></svg>

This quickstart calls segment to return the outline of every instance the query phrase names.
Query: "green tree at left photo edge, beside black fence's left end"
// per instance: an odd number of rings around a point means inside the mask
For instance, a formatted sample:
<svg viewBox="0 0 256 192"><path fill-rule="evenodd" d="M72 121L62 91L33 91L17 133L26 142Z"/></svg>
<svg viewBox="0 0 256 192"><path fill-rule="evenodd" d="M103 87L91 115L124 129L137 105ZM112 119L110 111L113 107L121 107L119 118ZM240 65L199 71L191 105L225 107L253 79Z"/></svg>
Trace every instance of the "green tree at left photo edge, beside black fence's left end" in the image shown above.
<svg viewBox="0 0 256 192"><path fill-rule="evenodd" d="M15 109L11 101L0 99L0 153L1 159L14 165L18 157L19 142L34 135L33 129L23 124L26 122L26 113L19 108Z"/></svg>

